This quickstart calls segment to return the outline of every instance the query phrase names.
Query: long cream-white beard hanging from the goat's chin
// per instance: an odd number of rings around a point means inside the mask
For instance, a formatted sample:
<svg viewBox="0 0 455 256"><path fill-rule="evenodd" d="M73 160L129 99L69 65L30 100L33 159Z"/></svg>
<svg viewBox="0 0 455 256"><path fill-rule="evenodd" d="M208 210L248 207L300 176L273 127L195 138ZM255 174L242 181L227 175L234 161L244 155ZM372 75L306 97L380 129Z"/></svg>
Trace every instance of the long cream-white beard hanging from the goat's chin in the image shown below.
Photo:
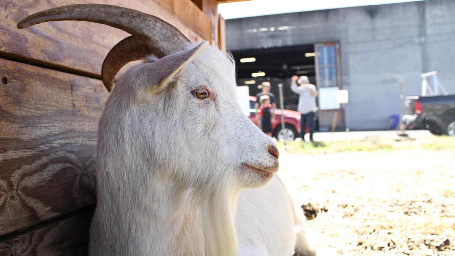
<svg viewBox="0 0 455 256"><path fill-rule="evenodd" d="M234 216L240 189L230 182L218 185L199 197L205 255L235 256L238 243Z"/></svg>

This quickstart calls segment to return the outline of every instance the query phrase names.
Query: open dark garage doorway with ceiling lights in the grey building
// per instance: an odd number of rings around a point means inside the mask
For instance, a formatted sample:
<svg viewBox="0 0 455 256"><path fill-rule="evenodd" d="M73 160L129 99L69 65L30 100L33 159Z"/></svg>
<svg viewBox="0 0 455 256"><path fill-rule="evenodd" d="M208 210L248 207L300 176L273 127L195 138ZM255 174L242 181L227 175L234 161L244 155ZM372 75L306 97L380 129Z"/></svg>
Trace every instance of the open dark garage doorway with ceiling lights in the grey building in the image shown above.
<svg viewBox="0 0 455 256"><path fill-rule="evenodd" d="M339 52L338 42L232 51L237 85L248 85L254 96L261 92L261 83L269 81L279 102L278 84L282 84L284 109L297 110L298 95L290 90L290 78L306 75L319 90L316 130L329 131L335 113L336 130L343 130L344 111L334 97L342 86Z"/></svg>

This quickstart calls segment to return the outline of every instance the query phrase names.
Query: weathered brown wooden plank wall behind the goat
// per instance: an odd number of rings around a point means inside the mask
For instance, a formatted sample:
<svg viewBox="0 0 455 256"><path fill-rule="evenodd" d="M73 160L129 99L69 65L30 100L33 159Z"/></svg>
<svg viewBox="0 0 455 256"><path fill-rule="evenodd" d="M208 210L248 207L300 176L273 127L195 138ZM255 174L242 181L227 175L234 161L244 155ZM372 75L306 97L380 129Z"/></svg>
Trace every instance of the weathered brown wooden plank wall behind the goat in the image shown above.
<svg viewBox="0 0 455 256"><path fill-rule="evenodd" d="M0 0L0 256L87 254L97 122L109 96L101 64L128 34L81 21L16 28L76 3L140 10L219 44L216 0Z"/></svg>

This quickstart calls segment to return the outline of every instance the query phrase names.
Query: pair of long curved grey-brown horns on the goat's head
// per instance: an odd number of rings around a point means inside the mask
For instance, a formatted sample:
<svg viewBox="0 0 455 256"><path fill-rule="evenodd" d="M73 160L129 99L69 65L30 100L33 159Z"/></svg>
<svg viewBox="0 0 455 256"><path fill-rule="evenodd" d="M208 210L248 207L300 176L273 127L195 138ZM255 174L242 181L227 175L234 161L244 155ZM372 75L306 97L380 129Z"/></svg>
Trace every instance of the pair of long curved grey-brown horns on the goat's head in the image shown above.
<svg viewBox="0 0 455 256"><path fill-rule="evenodd" d="M137 10L115 5L77 4L43 10L21 20L17 24L17 28L23 29L55 20L91 21L109 25L133 35L133 37L120 41L103 63L103 70L109 69L109 72L104 72L106 75L102 75L103 83L109 91L112 89L114 76L126 63L140 60L150 53L158 57L170 55L184 50L185 43L189 42L182 32L166 21ZM141 49L144 47L147 50ZM121 49L129 49L129 51L122 53ZM111 63L113 60L122 65Z"/></svg>

